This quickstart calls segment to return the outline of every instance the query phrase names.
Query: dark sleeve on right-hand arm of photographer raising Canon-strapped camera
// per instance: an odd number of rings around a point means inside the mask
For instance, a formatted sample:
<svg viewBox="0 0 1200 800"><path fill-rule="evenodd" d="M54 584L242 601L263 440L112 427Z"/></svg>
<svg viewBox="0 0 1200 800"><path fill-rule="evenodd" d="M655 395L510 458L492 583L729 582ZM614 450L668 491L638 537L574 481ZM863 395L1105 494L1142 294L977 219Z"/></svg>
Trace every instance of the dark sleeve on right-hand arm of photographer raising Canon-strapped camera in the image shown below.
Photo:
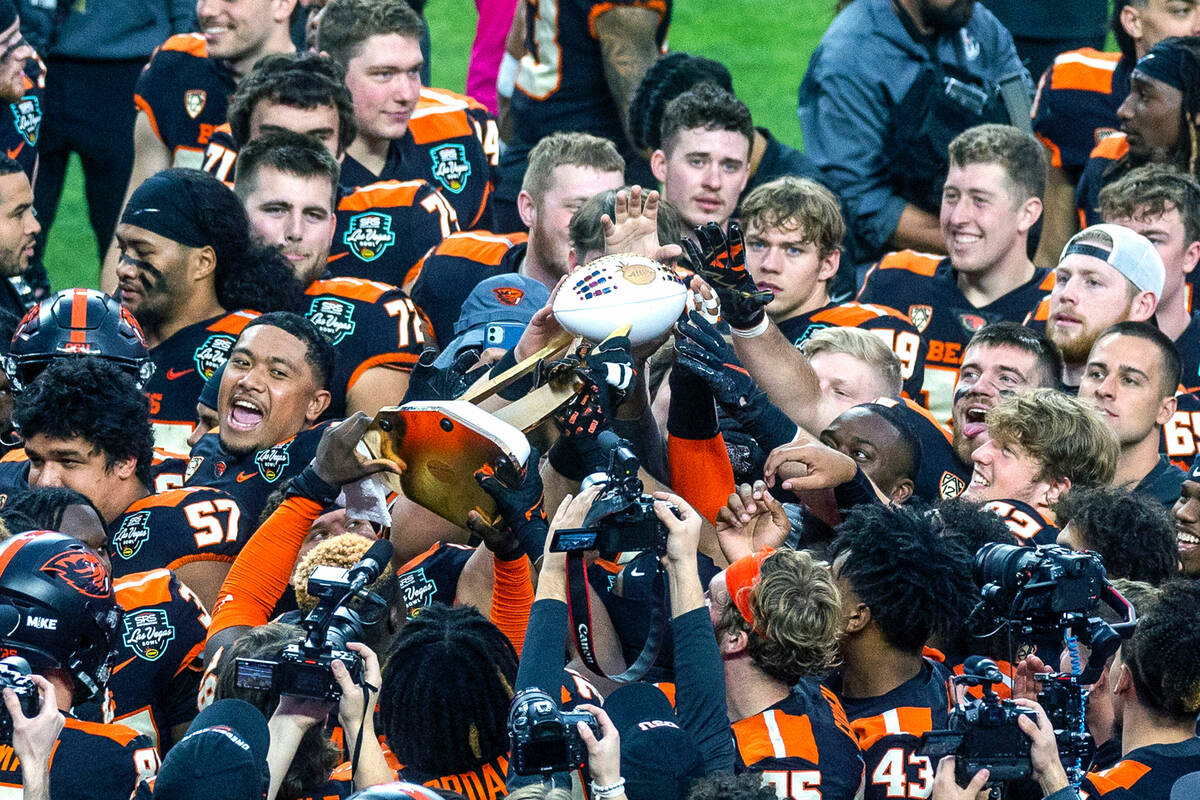
<svg viewBox="0 0 1200 800"><path fill-rule="evenodd" d="M725 710L725 672L708 609L671 620L674 637L676 715L704 758L704 774L732 772L733 736Z"/></svg>

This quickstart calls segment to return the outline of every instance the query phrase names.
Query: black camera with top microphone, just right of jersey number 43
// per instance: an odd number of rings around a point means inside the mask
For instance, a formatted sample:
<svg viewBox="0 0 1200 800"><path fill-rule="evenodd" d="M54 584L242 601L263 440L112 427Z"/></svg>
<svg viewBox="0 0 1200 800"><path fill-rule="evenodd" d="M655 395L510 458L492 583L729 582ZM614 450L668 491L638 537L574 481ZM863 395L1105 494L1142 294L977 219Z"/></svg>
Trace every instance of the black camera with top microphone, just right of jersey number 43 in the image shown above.
<svg viewBox="0 0 1200 800"><path fill-rule="evenodd" d="M991 690L1003 680L996 662L971 656L964 663L964 674L954 676L955 686L982 686L983 698L967 697L950 711L948 730L929 730L920 738L923 756L934 764L943 756L954 756L954 778L966 786L982 769L990 774L989 786L1030 777L1030 738L1018 720L1022 716L1037 721L1037 714L1012 700L1002 700Z"/></svg>

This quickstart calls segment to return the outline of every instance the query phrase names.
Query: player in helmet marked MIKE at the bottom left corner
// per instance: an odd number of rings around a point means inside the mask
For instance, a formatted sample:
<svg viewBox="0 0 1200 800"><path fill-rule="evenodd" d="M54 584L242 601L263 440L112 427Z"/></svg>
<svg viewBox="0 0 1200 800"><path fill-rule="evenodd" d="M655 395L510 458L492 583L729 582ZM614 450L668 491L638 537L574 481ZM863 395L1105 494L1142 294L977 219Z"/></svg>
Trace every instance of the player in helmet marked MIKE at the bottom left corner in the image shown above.
<svg viewBox="0 0 1200 800"><path fill-rule="evenodd" d="M65 717L49 758L54 800L127 800L139 781L154 777L158 753L133 728L71 712L100 699L115 666L122 612L112 577L82 542L49 531L4 542L0 563L0 606L11 619L0 645L28 662L38 691ZM0 787L19 793L20 764L11 745L0 747L7 751Z"/></svg>

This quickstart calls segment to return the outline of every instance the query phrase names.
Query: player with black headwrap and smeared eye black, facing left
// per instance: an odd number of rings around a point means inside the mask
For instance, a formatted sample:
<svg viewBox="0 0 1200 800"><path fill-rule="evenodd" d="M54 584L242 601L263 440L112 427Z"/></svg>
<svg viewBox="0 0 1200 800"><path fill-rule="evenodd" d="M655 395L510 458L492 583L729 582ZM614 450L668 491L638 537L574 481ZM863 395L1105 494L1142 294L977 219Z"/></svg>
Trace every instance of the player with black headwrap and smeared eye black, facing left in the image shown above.
<svg viewBox="0 0 1200 800"><path fill-rule="evenodd" d="M155 444L182 456L204 381L256 312L296 308L301 288L283 255L253 240L238 198L196 170L139 186L116 241L115 296L142 324L156 366L145 386Z"/></svg>

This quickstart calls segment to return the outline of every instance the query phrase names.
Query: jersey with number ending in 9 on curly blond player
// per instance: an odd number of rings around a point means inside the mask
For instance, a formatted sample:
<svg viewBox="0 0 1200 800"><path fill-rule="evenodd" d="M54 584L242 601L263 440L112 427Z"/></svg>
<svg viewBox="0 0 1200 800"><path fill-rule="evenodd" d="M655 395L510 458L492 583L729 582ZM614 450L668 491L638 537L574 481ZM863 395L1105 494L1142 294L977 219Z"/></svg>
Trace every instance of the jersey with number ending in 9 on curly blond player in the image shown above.
<svg viewBox="0 0 1200 800"><path fill-rule="evenodd" d="M830 303L779 324L779 330L796 347L800 347L805 339L826 327L862 327L878 336L900 360L904 393L913 399L922 398L920 386L925 380L925 354L929 351L929 342L920 337L907 317L888 306L844 302Z"/></svg>

